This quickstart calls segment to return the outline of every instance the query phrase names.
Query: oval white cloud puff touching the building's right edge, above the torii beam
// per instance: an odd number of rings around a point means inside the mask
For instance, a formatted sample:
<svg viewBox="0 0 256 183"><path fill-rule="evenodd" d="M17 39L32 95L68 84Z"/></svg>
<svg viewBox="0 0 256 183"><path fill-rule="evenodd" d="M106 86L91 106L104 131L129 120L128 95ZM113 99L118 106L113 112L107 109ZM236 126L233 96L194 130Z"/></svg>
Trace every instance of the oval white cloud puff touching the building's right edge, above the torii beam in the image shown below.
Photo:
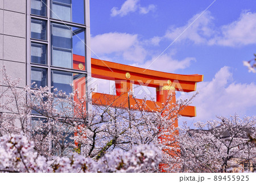
<svg viewBox="0 0 256 183"><path fill-rule="evenodd" d="M110 32L102 35L92 36L91 49L96 54L114 53L125 51L135 44L138 35L129 33Z"/></svg>

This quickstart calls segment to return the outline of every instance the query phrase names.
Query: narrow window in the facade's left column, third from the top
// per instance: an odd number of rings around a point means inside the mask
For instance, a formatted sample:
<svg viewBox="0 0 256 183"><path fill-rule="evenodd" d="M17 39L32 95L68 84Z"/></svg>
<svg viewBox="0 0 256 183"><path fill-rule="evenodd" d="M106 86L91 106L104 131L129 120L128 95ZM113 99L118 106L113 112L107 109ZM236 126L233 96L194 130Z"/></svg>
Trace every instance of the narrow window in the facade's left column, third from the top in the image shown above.
<svg viewBox="0 0 256 183"><path fill-rule="evenodd" d="M31 43L31 62L47 64L47 46L45 44Z"/></svg>

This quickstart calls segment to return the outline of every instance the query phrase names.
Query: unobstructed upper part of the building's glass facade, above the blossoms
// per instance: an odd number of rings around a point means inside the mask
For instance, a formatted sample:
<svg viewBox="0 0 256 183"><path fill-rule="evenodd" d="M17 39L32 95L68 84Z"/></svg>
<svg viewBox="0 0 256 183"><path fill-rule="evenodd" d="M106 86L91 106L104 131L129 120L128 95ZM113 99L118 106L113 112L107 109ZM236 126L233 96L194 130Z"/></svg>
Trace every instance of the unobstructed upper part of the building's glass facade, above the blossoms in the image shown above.
<svg viewBox="0 0 256 183"><path fill-rule="evenodd" d="M74 90L85 95L87 0L27 1L31 6L31 88L49 86L67 95Z"/></svg>

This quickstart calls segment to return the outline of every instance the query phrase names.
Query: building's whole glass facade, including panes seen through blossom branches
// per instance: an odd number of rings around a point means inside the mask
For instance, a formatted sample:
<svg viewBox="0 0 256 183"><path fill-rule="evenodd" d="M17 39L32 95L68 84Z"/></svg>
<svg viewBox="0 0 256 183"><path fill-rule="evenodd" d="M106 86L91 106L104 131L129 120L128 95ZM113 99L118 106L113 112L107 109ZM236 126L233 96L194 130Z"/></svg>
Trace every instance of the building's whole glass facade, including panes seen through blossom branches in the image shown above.
<svg viewBox="0 0 256 183"><path fill-rule="evenodd" d="M75 110L69 106L70 103L59 91L65 92L74 101L77 101L77 96L70 93L75 90L78 91L79 97L86 94L85 80L88 76L88 68L90 72L90 52L85 46L85 41L88 40L86 36L89 35L85 24L85 16L89 15L89 12L85 12L85 4L89 7L89 0L27 0L27 2L30 2L30 19L27 19L27 29L30 30L27 44L30 46L27 51L27 59L29 59L27 81L30 82L32 90L39 90L40 87L45 86L52 87L49 89L53 92L52 106L60 113L72 116ZM87 45L89 46L88 43ZM89 63L86 63L86 59ZM57 90L54 90L55 88ZM48 126L50 129L44 131L47 127L47 117L44 116L46 111L40 105L51 99L43 97L42 101L42 98L35 95L30 97L34 103L31 111L32 136L46 132L54 135L60 129ZM38 130L39 127L43 130ZM70 127L63 123L60 123L59 127L63 133L63 142L54 140L49 142L49 148L53 151L56 149L56 155L60 153L59 147L63 144L64 146L67 144L67 147L69 143L73 144L73 140L69 138L73 136ZM37 129L36 133L33 129Z"/></svg>

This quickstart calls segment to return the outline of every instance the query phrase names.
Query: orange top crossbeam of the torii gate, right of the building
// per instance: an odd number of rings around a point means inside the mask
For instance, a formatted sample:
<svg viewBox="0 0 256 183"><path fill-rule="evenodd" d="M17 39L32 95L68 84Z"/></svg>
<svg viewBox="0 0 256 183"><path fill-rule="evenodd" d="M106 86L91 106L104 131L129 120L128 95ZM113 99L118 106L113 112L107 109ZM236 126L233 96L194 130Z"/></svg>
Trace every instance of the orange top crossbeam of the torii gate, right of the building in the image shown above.
<svg viewBox="0 0 256 183"><path fill-rule="evenodd" d="M100 59L91 59L92 77L108 79L108 80L131 80L134 84L140 84L148 87L158 88L159 86L168 85L171 81L173 87L177 91L191 92L196 91L196 83L203 81L203 75L181 75L164 73L139 67L123 65ZM130 74L130 78L126 78L126 73Z"/></svg>

